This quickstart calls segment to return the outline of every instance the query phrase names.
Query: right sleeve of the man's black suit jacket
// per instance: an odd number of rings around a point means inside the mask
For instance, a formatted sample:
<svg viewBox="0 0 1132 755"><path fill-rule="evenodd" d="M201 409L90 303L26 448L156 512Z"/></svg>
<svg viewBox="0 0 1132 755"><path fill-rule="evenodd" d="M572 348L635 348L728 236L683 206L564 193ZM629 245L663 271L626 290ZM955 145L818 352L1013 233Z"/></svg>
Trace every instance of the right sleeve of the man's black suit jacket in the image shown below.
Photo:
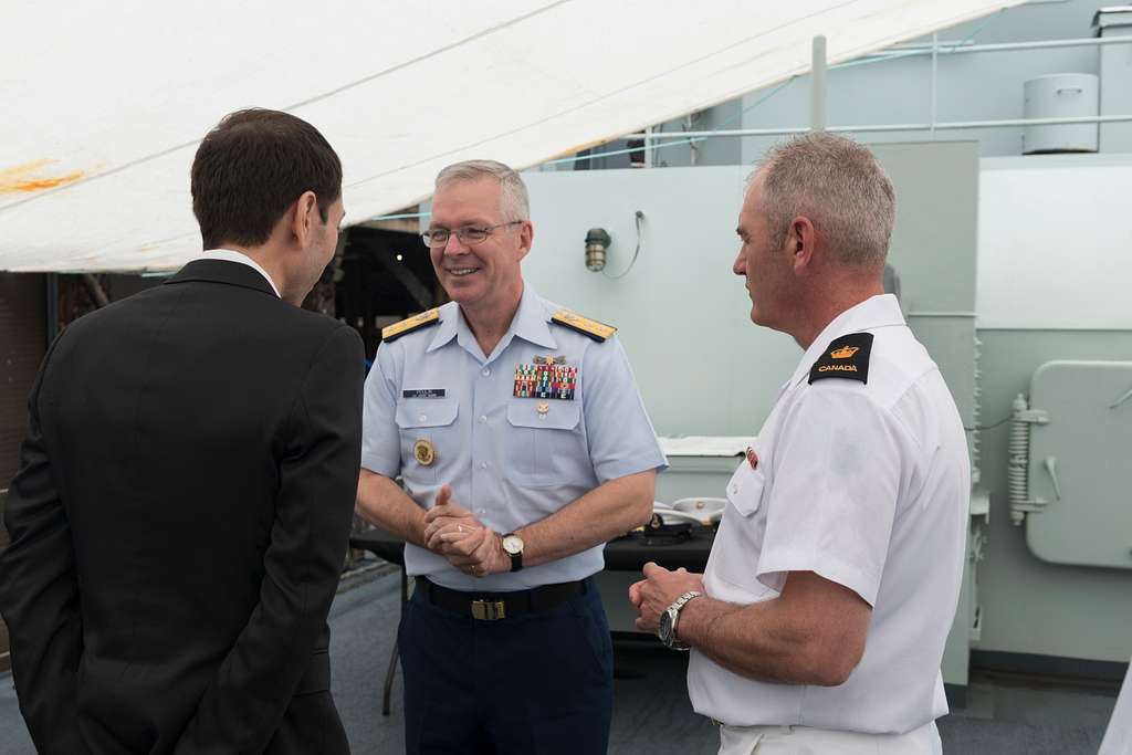
<svg viewBox="0 0 1132 755"><path fill-rule="evenodd" d="M285 423L259 601L213 672L177 755L263 752L324 650L357 500L361 380L361 341L340 327L311 359Z"/></svg>

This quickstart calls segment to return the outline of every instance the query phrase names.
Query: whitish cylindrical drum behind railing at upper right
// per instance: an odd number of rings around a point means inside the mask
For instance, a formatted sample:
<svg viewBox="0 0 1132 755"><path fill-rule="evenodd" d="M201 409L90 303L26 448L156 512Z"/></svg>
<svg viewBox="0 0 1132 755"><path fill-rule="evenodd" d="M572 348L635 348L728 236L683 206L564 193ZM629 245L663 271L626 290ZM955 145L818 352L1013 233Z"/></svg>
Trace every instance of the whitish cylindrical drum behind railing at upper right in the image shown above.
<svg viewBox="0 0 1132 755"><path fill-rule="evenodd" d="M1092 74L1053 74L1031 78L1022 88L1024 117L1087 118L1099 109L1099 85ZM1028 126L1022 131L1022 154L1096 152L1096 123Z"/></svg>

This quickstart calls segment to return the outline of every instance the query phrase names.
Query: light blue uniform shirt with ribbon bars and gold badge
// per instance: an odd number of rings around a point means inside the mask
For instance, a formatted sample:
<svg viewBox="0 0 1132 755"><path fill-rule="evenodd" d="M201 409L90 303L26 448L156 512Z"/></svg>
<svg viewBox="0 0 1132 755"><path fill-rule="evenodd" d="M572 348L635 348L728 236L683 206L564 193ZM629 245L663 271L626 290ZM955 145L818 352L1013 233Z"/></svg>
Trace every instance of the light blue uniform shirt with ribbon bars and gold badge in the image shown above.
<svg viewBox="0 0 1132 755"><path fill-rule="evenodd" d="M524 286L511 329L489 357L455 302L440 307L439 325L383 343L366 379L362 466L401 474L422 508L447 482L455 503L499 533L543 520L609 480L663 470L617 337L599 343L551 323L558 309ZM577 368L573 400L514 395L516 368L534 364L535 355ZM419 440L431 444L431 464L417 461ZM454 590L525 590L600 572L602 549L477 578L406 544L405 568Z"/></svg>

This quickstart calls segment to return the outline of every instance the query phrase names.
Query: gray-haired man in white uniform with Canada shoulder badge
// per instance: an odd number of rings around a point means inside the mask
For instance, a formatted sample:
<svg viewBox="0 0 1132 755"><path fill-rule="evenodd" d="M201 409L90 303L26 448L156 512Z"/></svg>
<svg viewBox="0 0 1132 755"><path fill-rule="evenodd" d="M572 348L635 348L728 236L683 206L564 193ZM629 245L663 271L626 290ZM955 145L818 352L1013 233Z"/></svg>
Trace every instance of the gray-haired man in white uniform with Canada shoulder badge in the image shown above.
<svg viewBox="0 0 1132 755"><path fill-rule="evenodd" d="M691 646L721 754L942 752L970 469L943 377L884 293L894 216L872 153L829 134L773 149L747 190L751 319L806 353L728 484L706 572L649 565L629 591L638 627Z"/></svg>

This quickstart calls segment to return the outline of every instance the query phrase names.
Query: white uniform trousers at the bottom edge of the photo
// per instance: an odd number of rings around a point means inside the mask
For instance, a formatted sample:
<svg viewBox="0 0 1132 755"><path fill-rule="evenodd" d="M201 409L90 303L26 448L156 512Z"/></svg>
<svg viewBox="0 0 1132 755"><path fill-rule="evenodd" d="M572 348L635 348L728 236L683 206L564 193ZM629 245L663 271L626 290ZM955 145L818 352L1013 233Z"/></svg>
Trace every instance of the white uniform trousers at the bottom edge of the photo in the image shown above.
<svg viewBox="0 0 1132 755"><path fill-rule="evenodd" d="M863 733L809 727L719 728L719 755L942 755L935 721L908 733Z"/></svg>

